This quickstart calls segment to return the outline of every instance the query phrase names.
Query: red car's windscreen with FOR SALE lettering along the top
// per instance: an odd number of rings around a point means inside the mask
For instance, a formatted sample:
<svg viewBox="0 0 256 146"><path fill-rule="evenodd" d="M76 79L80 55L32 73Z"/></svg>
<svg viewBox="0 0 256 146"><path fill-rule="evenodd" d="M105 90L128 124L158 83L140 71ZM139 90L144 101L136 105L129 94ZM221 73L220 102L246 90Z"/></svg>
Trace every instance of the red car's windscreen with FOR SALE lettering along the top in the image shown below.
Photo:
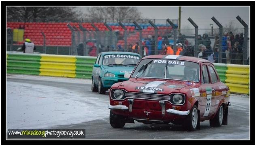
<svg viewBox="0 0 256 146"><path fill-rule="evenodd" d="M135 68L134 78L163 78L199 81L199 64L174 59L143 59Z"/></svg>

